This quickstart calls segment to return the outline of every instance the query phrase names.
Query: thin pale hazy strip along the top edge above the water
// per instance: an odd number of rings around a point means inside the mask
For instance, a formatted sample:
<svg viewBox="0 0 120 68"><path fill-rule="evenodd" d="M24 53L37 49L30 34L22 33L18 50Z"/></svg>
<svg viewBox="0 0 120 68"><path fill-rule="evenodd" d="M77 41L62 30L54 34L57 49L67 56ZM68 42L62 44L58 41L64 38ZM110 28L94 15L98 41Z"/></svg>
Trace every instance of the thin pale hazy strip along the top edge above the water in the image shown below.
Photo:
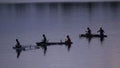
<svg viewBox="0 0 120 68"><path fill-rule="evenodd" d="M0 3L16 2L88 2L88 1L120 1L120 0L0 0Z"/></svg>

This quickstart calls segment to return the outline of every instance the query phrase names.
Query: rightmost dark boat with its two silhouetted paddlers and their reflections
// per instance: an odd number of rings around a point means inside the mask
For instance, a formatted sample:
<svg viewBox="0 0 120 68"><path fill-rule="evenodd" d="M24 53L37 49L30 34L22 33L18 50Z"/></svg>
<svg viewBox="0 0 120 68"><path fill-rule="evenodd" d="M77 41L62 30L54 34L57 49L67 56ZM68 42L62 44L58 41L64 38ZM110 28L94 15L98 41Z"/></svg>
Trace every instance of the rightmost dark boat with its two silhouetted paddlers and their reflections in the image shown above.
<svg viewBox="0 0 120 68"><path fill-rule="evenodd" d="M104 35L104 30L102 29L102 27L100 27L100 29L97 31L100 34L92 34L90 28L87 28L87 31L85 34L81 34L79 37L85 37L86 39L88 39L88 42L90 43L92 38L100 38L101 43L104 41L104 38L107 37L107 35Z"/></svg>

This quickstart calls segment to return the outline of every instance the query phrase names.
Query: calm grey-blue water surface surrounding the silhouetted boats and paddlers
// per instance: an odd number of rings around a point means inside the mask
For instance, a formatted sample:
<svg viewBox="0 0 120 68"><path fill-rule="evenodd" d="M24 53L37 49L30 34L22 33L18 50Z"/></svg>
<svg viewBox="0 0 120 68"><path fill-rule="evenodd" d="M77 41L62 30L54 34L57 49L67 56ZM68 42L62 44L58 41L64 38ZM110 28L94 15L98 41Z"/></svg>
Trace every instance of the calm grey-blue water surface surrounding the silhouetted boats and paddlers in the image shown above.
<svg viewBox="0 0 120 68"><path fill-rule="evenodd" d="M103 27L105 38L90 43L79 34L90 27ZM120 3L0 4L0 68L119 68ZM18 38L23 45L35 45L46 34L49 41L65 40L73 45L50 46L22 52L19 59L12 47Z"/></svg>

